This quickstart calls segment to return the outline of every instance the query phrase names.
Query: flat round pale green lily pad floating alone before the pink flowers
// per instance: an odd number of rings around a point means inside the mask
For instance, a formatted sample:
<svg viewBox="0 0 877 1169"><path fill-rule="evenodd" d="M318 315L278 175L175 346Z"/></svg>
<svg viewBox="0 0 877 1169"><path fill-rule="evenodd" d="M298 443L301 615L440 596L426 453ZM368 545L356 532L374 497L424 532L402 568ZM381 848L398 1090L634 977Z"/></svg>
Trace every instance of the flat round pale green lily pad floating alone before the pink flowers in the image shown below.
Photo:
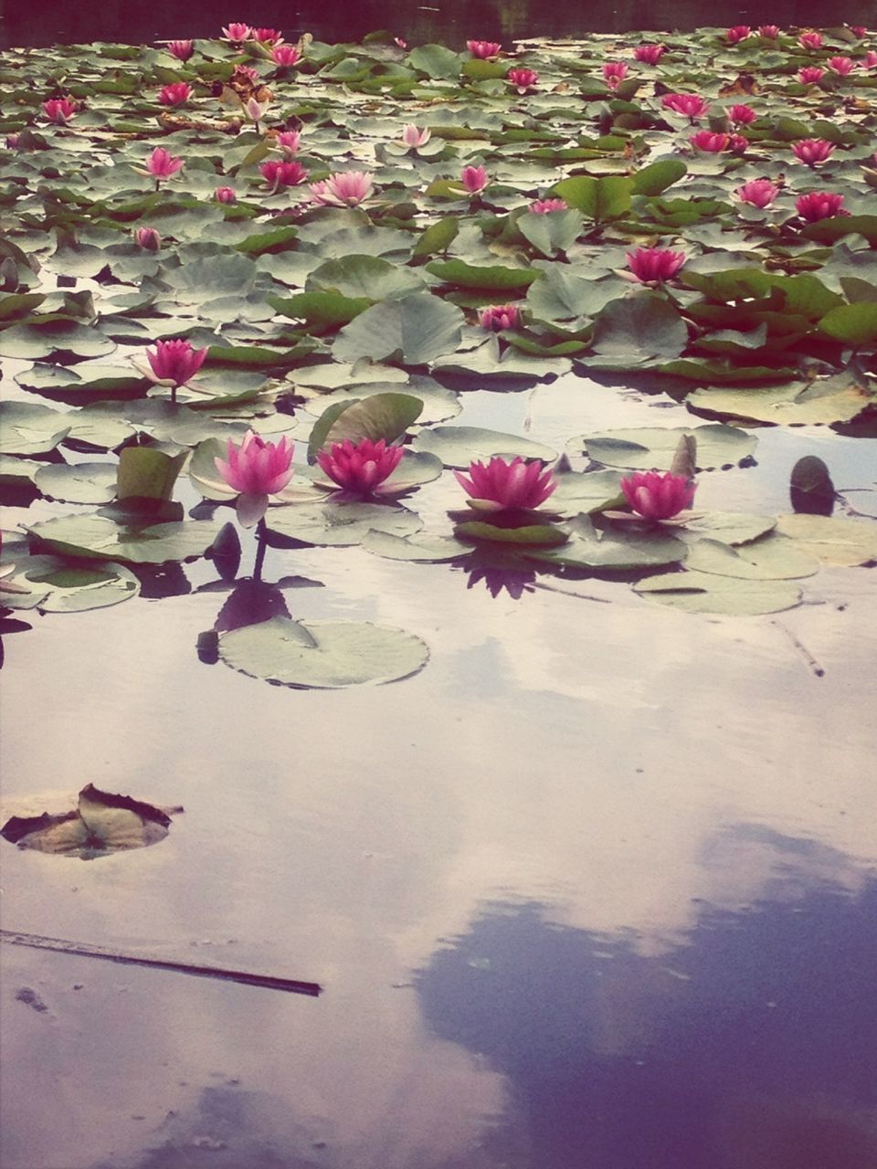
<svg viewBox="0 0 877 1169"><path fill-rule="evenodd" d="M396 682L422 670L424 642L402 629L272 617L225 632L219 655L251 678L298 689L339 690Z"/></svg>

